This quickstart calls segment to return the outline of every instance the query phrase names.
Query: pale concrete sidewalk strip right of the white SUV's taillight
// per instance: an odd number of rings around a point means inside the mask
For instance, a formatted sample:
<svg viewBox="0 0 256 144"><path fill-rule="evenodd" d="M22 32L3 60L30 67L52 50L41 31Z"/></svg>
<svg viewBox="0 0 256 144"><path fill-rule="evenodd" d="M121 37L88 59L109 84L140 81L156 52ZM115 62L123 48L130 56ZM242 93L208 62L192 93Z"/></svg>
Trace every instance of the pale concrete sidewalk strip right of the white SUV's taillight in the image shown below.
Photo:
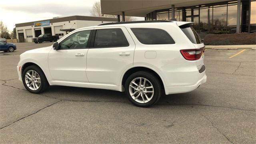
<svg viewBox="0 0 256 144"><path fill-rule="evenodd" d="M256 49L255 44L251 45L219 45L219 46L212 46L207 45L205 46L206 49L223 49L223 50L237 50L237 49Z"/></svg>

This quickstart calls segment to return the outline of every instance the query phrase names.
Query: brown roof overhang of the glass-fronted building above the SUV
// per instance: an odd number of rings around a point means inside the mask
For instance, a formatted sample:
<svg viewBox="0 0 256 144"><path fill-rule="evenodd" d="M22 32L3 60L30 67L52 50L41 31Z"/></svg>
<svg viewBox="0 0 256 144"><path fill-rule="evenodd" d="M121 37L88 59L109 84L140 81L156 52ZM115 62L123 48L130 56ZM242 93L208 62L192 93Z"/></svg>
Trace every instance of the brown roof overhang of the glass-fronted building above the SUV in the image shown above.
<svg viewBox="0 0 256 144"><path fill-rule="evenodd" d="M154 11L171 8L171 5L177 7L197 6L200 4L209 4L215 2L224 2L228 0L100 0L102 14L140 16Z"/></svg>

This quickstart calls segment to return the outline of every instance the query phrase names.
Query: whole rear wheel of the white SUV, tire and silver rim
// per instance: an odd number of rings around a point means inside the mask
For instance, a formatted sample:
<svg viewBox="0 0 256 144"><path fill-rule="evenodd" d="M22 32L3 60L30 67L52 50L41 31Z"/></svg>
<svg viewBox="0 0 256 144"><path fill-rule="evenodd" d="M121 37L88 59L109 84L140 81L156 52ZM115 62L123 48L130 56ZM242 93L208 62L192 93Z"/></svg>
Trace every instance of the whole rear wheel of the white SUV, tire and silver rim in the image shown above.
<svg viewBox="0 0 256 144"><path fill-rule="evenodd" d="M156 104L161 97L161 83L150 72L135 72L126 80L125 93L132 104L140 107L149 107Z"/></svg>

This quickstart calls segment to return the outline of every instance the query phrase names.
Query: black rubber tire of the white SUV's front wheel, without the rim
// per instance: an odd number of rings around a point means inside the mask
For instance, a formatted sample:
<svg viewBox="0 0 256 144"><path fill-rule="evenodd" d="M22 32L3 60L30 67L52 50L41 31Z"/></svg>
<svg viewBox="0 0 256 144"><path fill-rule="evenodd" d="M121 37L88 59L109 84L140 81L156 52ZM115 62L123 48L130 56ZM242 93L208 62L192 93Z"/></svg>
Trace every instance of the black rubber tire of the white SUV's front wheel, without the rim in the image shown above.
<svg viewBox="0 0 256 144"><path fill-rule="evenodd" d="M34 70L38 73L38 75L40 76L40 81L41 81L41 84L39 86L39 88L37 90L31 90L30 88L28 88L28 86L26 85L26 82L25 82L25 74L26 72L28 72L29 70ZM44 72L38 67L38 66L28 66L27 68L25 68L25 70L22 72L22 82L23 82L23 85L25 86L25 88L31 92L31 93L34 93L34 94L39 94L39 93L42 93L44 92L48 87L49 87L49 83L48 83L48 80L46 79L46 76L44 75Z"/></svg>

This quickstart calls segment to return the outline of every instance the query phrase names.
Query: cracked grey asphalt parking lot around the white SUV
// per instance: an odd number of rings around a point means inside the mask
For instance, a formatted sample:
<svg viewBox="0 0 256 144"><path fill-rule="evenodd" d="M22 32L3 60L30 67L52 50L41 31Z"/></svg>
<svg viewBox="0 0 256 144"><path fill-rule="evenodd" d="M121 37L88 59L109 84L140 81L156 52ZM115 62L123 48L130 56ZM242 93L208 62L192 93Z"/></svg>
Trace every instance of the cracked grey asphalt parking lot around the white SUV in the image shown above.
<svg viewBox="0 0 256 144"><path fill-rule="evenodd" d="M18 43L0 54L0 143L256 143L256 50L206 50L208 80L162 96L151 108L122 92L51 86L28 92L19 54L52 43Z"/></svg>

